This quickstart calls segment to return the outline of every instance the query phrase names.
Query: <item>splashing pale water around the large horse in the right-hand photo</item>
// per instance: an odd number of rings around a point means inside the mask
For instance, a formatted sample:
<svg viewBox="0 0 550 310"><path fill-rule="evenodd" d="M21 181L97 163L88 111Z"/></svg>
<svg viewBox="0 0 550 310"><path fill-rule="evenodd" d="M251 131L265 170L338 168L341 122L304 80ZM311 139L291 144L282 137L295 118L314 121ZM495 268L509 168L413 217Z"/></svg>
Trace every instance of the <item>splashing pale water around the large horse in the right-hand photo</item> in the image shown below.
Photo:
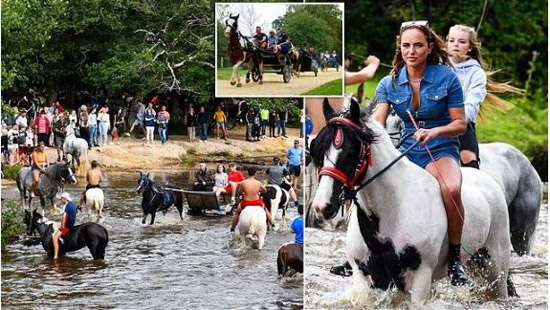
<svg viewBox="0 0 550 310"><path fill-rule="evenodd" d="M548 296L548 204L540 210L535 241L529 255L513 254L512 279L519 298L484 301L482 296L466 288L456 288L447 279L432 285L425 309L547 309ZM329 272L330 267L345 261L345 232L306 228L304 291L308 309L352 308L386 309L417 308L410 297L399 292L383 292L365 288L352 290L352 278Z"/></svg>

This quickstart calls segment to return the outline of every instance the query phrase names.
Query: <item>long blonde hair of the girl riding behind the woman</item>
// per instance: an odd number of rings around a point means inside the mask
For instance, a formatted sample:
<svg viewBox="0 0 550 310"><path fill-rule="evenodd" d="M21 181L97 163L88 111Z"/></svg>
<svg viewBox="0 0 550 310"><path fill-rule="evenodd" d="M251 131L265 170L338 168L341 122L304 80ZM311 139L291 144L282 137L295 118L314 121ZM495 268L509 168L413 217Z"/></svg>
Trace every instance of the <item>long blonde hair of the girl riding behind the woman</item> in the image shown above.
<svg viewBox="0 0 550 310"><path fill-rule="evenodd" d="M470 51L467 55L470 58L477 60L477 62L479 62L479 64L481 65L481 68L487 74L487 96L485 97L485 101L487 101L491 106L499 110L509 109L509 102L498 97L496 94L521 94L524 92L524 90L510 85L510 81L502 83L493 80L493 75L498 73L500 70L491 70L483 60L483 57L481 56L481 41L479 40L474 27L458 24L449 28L449 32L451 32L451 30L458 30L468 33ZM447 39L448 37L449 35L447 35Z"/></svg>

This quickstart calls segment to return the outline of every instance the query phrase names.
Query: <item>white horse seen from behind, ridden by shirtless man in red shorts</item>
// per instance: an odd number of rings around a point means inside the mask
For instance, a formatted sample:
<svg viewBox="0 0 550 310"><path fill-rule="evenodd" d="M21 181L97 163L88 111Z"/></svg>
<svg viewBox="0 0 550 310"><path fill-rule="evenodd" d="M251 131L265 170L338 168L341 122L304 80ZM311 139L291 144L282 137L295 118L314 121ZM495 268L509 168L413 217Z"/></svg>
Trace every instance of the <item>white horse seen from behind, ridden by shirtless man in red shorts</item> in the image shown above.
<svg viewBox="0 0 550 310"><path fill-rule="evenodd" d="M246 247L246 240L251 241L258 250L264 247L267 233L266 220L267 216L262 207L248 206L241 211L237 227L243 247Z"/></svg>

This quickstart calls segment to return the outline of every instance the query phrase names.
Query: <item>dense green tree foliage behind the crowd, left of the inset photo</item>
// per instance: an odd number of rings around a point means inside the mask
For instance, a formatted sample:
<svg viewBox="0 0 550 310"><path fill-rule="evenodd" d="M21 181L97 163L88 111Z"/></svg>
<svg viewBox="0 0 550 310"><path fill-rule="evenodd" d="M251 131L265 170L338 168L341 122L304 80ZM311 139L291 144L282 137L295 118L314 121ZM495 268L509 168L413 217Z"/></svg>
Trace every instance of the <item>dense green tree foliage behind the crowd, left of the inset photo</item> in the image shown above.
<svg viewBox="0 0 550 310"><path fill-rule="evenodd" d="M208 0L7 0L2 9L8 94L44 87L50 97L90 89L213 97Z"/></svg>

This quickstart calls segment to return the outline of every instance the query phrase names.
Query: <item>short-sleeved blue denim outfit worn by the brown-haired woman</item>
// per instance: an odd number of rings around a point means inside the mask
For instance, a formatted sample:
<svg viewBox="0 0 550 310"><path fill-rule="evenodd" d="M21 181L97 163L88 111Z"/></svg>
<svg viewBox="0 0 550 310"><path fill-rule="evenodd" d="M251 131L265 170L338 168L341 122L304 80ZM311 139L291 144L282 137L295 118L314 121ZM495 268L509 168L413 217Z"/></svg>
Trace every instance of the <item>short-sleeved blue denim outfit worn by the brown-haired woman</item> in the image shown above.
<svg viewBox="0 0 550 310"><path fill-rule="evenodd" d="M420 82L420 106L418 112L413 109L412 88L406 66L403 66L395 85L392 77L384 77L376 88L376 103L389 104L396 114L405 123L405 132L415 131L407 110L415 117L415 121L422 128L434 128L446 126L451 122L449 109L464 108L464 95L462 86L454 71L444 65L426 66L424 77ZM410 137L402 144L402 149L413 144L415 139ZM457 138L438 137L428 141L430 149L438 147L458 147ZM417 147L421 147L420 145Z"/></svg>

